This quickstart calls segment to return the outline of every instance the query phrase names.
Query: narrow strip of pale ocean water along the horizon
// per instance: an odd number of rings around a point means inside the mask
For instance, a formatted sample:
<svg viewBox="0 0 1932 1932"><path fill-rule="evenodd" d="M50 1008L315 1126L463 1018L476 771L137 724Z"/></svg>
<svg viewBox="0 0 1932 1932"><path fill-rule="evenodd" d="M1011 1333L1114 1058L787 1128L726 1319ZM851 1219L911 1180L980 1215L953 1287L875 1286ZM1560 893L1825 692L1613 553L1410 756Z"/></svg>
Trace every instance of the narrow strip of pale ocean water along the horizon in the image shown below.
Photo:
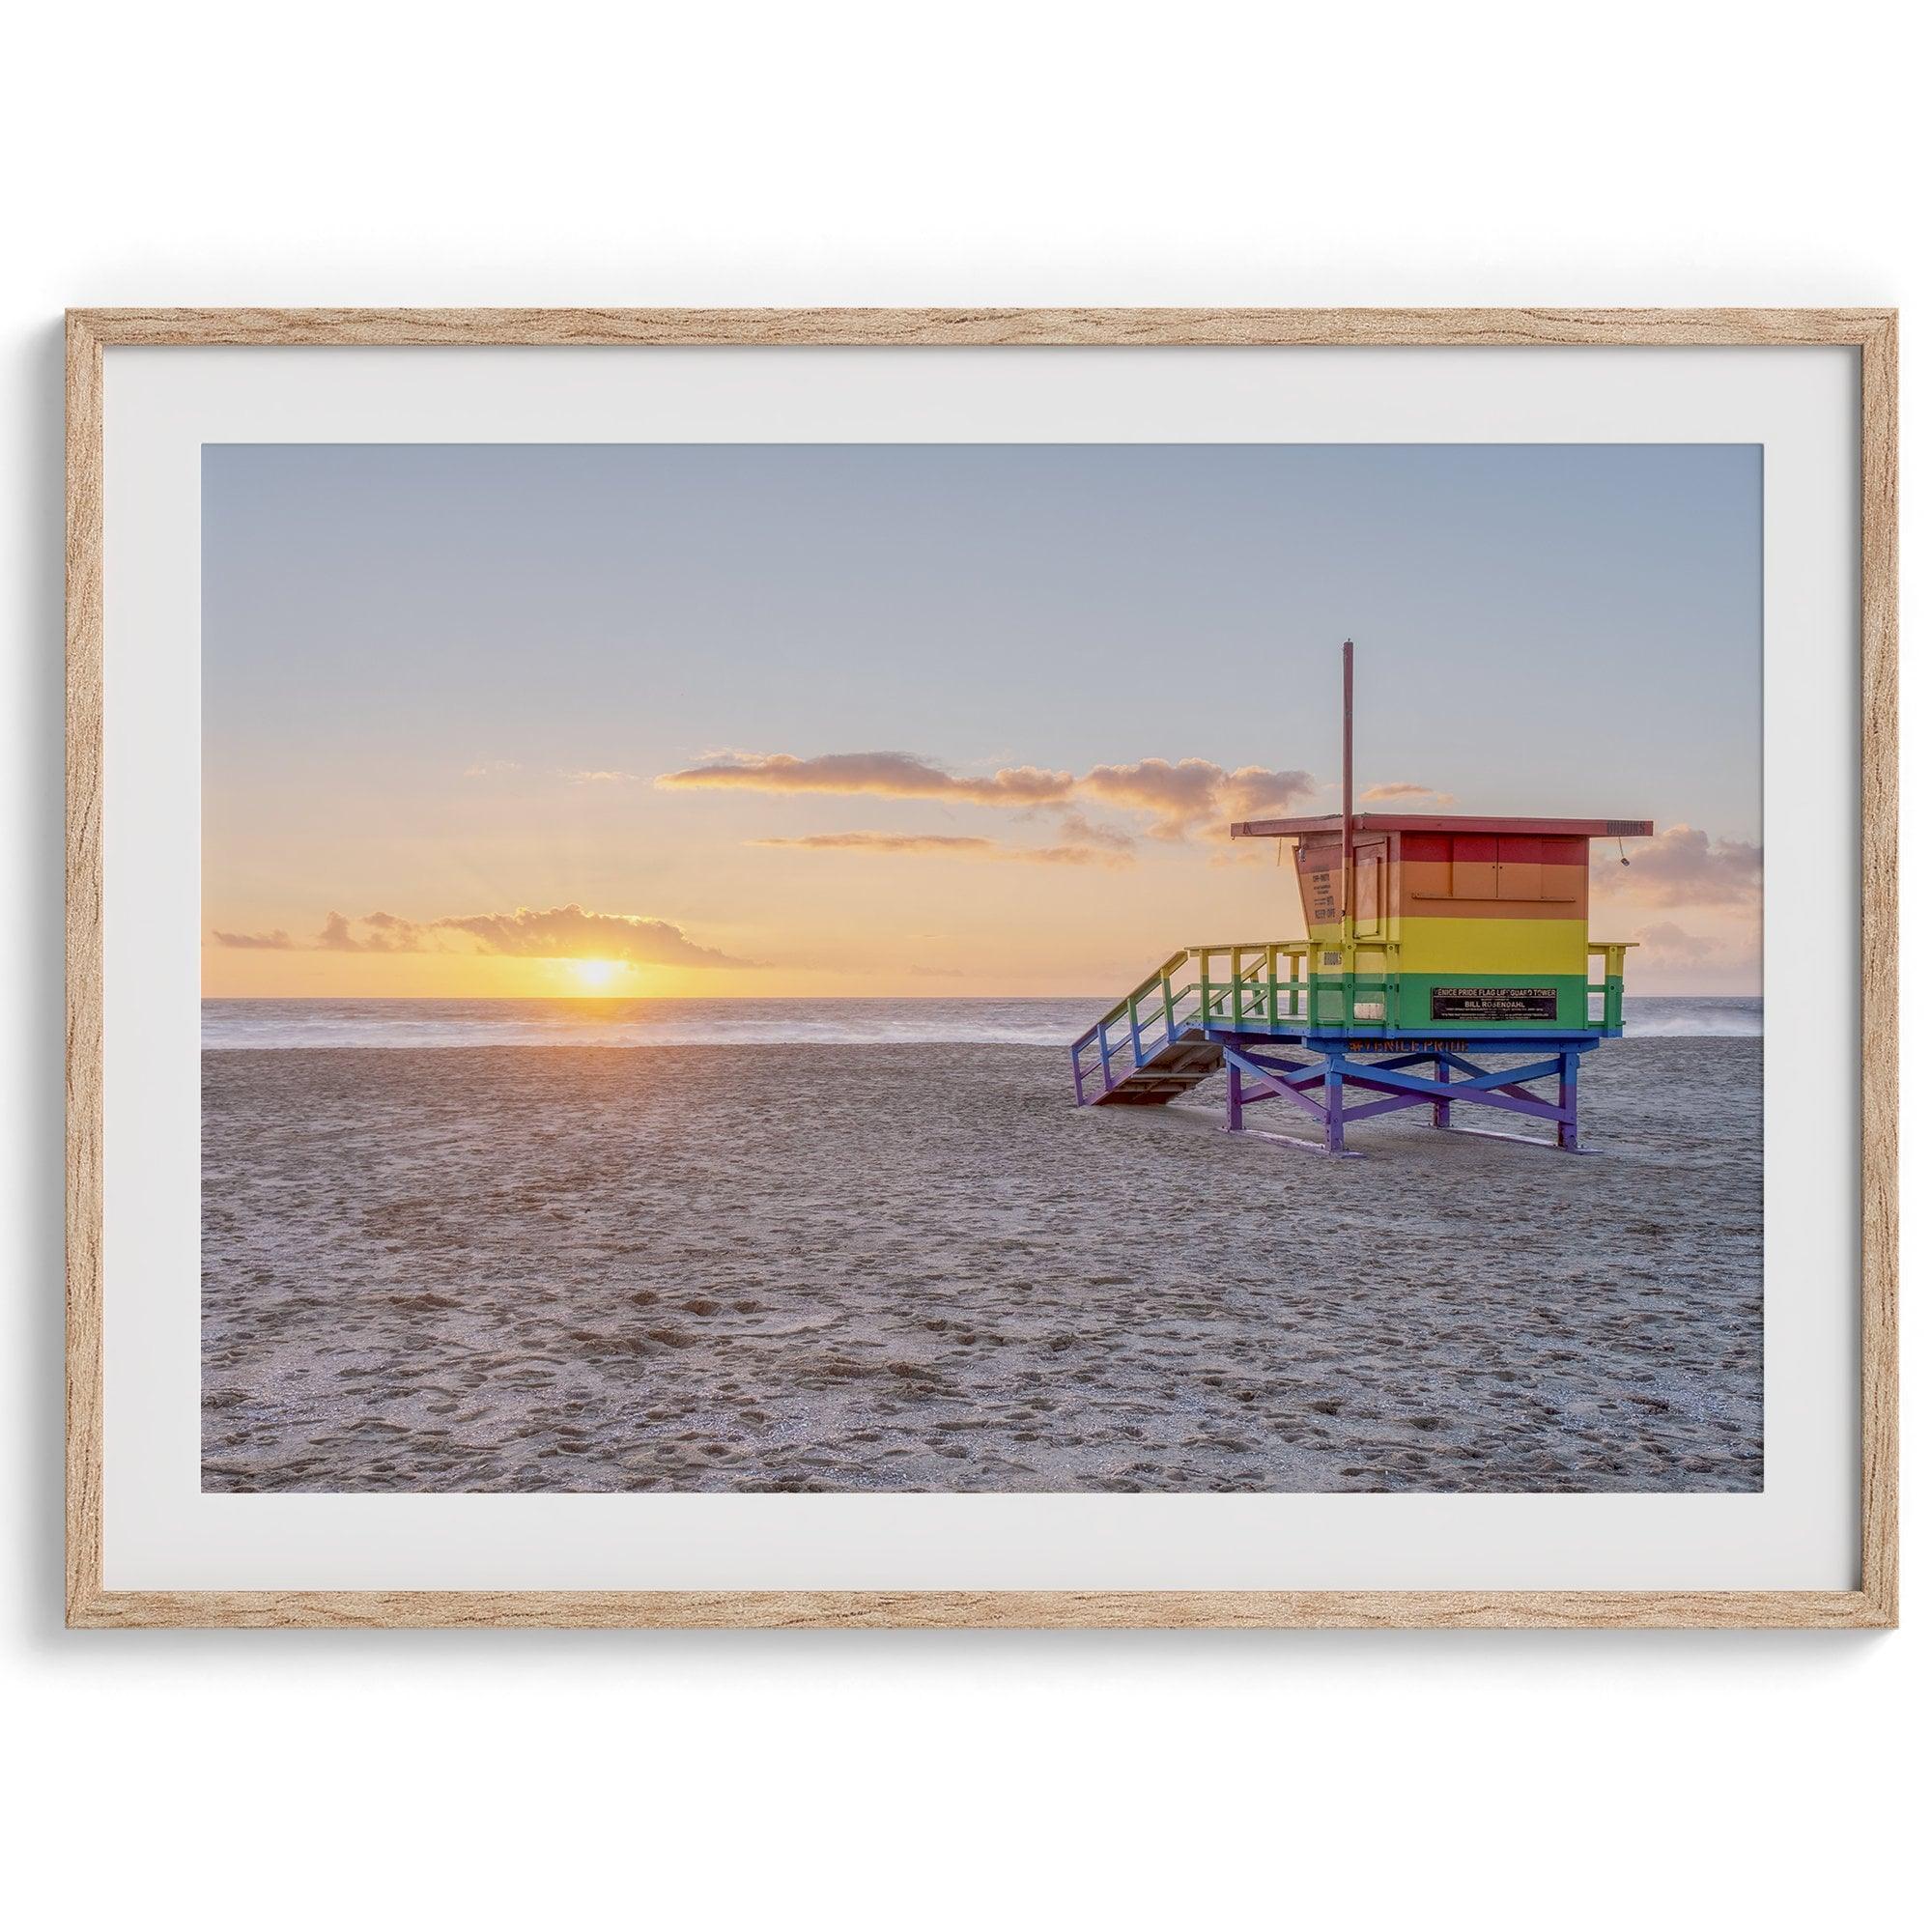
<svg viewBox="0 0 1932 1932"><path fill-rule="evenodd" d="M201 1045L234 1047L1068 1047L1094 999L205 999ZM1754 1037L1760 999L1638 999L1625 1032Z"/></svg>

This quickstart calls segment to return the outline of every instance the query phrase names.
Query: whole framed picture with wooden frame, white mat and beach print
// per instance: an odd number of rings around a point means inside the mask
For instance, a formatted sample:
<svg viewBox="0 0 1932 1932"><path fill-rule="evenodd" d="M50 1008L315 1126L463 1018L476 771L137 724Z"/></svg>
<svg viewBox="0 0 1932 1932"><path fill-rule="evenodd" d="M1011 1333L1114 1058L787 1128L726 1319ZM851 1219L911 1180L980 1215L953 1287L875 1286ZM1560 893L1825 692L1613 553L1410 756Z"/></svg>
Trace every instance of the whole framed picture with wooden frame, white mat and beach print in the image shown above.
<svg viewBox="0 0 1932 1932"><path fill-rule="evenodd" d="M1889 311L68 352L70 1623L1897 1621Z"/></svg>

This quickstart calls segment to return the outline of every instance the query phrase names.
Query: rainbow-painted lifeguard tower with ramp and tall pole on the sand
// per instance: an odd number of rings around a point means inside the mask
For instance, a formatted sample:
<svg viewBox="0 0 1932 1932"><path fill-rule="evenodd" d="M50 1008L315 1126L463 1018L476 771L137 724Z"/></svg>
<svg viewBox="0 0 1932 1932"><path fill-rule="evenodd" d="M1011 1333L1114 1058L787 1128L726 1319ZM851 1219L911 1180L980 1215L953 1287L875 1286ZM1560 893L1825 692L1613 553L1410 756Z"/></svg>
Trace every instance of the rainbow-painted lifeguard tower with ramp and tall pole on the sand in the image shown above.
<svg viewBox="0 0 1932 1932"><path fill-rule="evenodd" d="M1229 827L1294 840L1308 937L1175 952L1074 1041L1074 1099L1165 1107L1225 1066L1231 1132L1256 1132L1248 1109L1283 1101L1316 1132L1265 1138L1318 1153L1352 1153L1350 1122L1403 1107L1428 1107L1445 1132L1584 1153L1577 1070L1623 1032L1629 951L1590 939L1590 840L1650 831L1650 819L1358 813L1345 643L1341 813ZM1540 1082L1553 1095L1532 1092ZM1549 1122L1555 1140L1457 1126L1455 1107Z"/></svg>

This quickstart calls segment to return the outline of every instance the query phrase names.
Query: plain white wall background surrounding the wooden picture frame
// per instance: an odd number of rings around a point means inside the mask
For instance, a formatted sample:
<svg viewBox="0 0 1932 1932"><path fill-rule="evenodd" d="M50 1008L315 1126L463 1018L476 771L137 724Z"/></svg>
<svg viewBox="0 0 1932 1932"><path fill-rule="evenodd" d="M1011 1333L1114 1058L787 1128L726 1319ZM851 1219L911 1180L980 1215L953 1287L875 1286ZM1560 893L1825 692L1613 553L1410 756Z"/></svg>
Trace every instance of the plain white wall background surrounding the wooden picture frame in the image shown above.
<svg viewBox="0 0 1932 1932"><path fill-rule="evenodd" d="M1868 1888L1903 1884L1922 1826L1920 1629L64 1633L58 321L68 303L1872 301L1907 307L1911 342L1932 290L1907 33L1905 10L1870 4L14 17L0 1710L19 1789L0 1814L23 1924L1880 1909ZM1917 510L1909 495L1909 589ZM1924 1074L1918 1028L1907 1045ZM1922 1148L1911 1122L1907 1161ZM1922 1275L1915 1221L1907 1300ZM1915 1505L1911 1432L1907 1459ZM1909 1507L1907 1548L1924 1532Z"/></svg>

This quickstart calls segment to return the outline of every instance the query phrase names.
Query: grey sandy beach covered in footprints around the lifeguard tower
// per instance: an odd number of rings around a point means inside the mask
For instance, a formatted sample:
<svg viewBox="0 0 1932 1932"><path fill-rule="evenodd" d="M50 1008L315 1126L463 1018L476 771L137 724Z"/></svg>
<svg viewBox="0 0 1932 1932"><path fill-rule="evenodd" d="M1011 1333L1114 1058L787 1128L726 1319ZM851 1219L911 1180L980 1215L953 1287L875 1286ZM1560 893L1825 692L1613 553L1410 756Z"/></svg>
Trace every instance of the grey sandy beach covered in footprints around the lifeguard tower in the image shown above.
<svg viewBox="0 0 1932 1932"><path fill-rule="evenodd" d="M1756 1490L1758 1095L1333 1163L1028 1045L209 1051L203 1484Z"/></svg>

